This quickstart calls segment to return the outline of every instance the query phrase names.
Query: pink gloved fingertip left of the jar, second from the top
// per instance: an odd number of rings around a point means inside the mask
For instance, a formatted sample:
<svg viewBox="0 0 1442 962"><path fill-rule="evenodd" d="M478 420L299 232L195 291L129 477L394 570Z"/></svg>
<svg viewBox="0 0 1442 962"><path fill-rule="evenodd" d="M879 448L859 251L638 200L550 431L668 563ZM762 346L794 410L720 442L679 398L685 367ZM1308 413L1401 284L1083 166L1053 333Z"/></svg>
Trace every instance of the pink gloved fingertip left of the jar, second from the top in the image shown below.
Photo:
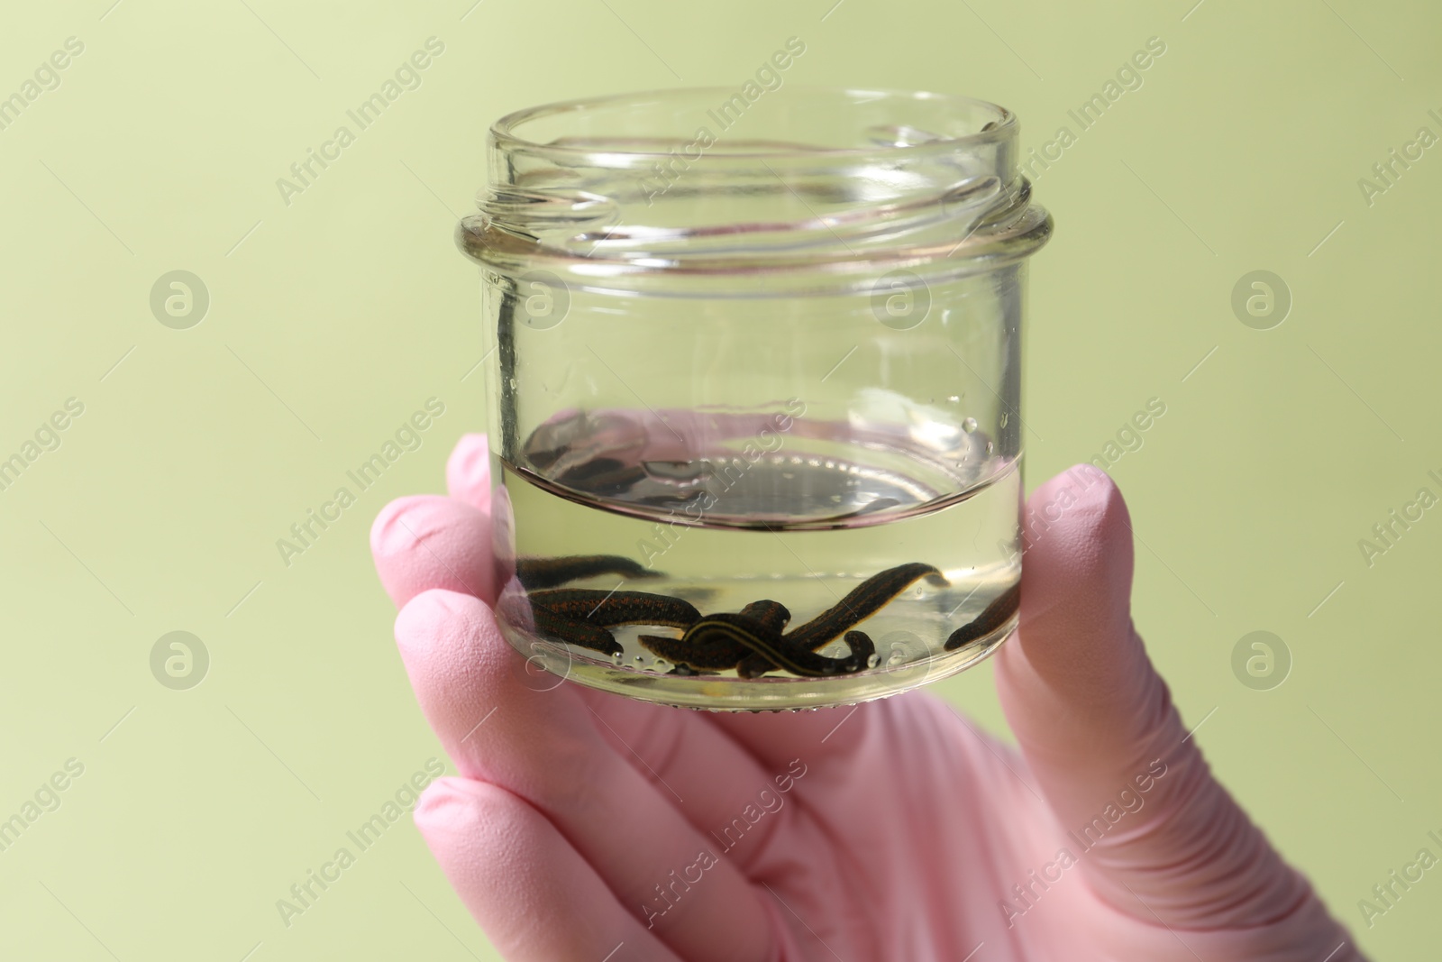
<svg viewBox="0 0 1442 962"><path fill-rule="evenodd" d="M392 500L371 525L371 555L397 606L428 588L495 597L490 518L453 498Z"/></svg>

